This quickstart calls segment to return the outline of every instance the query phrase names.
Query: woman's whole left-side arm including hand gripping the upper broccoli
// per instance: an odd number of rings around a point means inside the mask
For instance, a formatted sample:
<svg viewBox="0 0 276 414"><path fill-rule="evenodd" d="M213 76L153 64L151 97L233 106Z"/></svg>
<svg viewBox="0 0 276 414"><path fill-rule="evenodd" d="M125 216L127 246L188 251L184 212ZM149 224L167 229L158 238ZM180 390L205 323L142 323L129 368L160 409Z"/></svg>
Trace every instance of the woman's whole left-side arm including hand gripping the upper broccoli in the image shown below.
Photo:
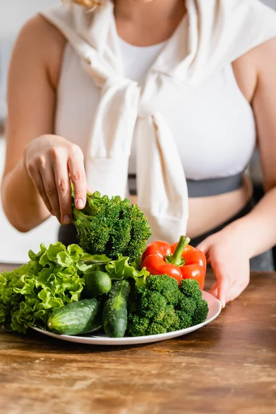
<svg viewBox="0 0 276 414"><path fill-rule="evenodd" d="M70 222L70 162L73 184L79 197L86 197L80 149L51 135L65 44L59 31L37 16L21 30L12 54L1 196L10 223L23 232L41 224L50 212L61 222L68 216L63 222Z"/></svg>

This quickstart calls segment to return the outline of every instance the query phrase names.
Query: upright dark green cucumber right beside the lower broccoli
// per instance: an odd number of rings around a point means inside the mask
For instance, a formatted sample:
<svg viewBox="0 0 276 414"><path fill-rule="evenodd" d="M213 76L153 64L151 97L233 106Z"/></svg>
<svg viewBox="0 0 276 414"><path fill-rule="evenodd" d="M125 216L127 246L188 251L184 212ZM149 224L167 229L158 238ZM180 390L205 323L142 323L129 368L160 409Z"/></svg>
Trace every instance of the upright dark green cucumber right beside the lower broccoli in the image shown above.
<svg viewBox="0 0 276 414"><path fill-rule="evenodd" d="M126 280L117 280L103 308L103 330L111 338L124 337L128 324L127 300L130 284Z"/></svg>

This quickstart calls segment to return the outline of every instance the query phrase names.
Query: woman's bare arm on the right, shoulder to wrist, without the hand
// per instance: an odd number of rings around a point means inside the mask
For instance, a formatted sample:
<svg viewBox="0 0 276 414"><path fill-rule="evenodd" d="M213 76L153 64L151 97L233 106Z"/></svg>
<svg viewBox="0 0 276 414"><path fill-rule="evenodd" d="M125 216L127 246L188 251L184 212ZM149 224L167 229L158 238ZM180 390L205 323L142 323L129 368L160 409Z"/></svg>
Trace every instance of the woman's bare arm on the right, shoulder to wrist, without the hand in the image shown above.
<svg viewBox="0 0 276 414"><path fill-rule="evenodd" d="M276 39L253 51L257 88L253 110L266 194L251 213L230 225L254 257L276 244Z"/></svg>

